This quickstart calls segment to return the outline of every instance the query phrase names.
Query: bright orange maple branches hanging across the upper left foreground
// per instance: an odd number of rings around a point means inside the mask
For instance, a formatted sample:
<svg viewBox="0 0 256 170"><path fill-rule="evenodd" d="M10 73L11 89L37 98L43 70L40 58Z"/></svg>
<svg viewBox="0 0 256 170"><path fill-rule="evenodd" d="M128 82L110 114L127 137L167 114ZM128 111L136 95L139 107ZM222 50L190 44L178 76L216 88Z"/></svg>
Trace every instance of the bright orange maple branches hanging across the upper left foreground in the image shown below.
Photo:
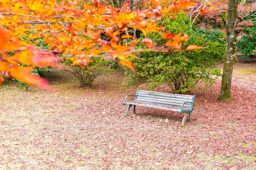
<svg viewBox="0 0 256 170"><path fill-rule="evenodd" d="M137 44L135 35L124 34L128 28L136 28L144 34L143 42L151 48L149 50L159 50L147 38L149 32L160 33L163 39L169 39L166 46L172 49L179 49L182 41L189 39L186 34L163 32L164 27L158 26L155 20L191 7L192 0L175 1L166 7L162 7L158 0L151 0L148 9L136 11L130 9L129 1L124 2L121 8L96 0L93 3L83 2L0 0L0 72L29 85L52 90L44 79L31 74L31 71L34 67L58 67L59 56L70 57L73 64L80 66L87 66L91 57L104 57L133 69L127 57L136 57L134 52L141 50L134 49ZM102 34L109 37L109 45L103 46ZM49 49L32 46L21 41L20 36L43 38ZM132 38L133 42L122 44L122 40L127 38ZM189 46L187 50L197 48L200 47ZM7 55L10 51L14 55ZM0 83L3 81L0 76Z"/></svg>

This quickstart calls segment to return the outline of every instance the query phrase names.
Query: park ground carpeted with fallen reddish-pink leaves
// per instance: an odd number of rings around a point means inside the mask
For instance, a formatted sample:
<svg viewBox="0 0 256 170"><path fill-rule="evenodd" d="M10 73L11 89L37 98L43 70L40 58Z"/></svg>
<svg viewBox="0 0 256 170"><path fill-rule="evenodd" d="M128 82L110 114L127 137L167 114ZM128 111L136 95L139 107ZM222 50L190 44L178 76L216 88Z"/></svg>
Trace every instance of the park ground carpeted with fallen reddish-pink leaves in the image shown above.
<svg viewBox="0 0 256 170"><path fill-rule="evenodd" d="M256 169L255 61L236 64L233 102L217 101L221 80L191 92L185 126L183 115L159 109L125 117L122 102L136 89L121 86L120 69L87 89L64 71L45 78L56 93L15 82L0 88L0 169Z"/></svg>

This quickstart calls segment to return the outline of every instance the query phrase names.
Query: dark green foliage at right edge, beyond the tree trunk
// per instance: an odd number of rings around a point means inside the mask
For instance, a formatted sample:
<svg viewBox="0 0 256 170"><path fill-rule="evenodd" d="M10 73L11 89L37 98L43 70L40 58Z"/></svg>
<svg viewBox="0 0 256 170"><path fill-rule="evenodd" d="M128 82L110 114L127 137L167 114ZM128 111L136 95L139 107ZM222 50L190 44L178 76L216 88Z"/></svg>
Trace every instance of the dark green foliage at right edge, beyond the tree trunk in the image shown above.
<svg viewBox="0 0 256 170"><path fill-rule="evenodd" d="M243 53L243 59L256 56L256 15L252 15L248 20L252 20L254 25L246 26L243 32L247 35L238 41L238 48Z"/></svg>

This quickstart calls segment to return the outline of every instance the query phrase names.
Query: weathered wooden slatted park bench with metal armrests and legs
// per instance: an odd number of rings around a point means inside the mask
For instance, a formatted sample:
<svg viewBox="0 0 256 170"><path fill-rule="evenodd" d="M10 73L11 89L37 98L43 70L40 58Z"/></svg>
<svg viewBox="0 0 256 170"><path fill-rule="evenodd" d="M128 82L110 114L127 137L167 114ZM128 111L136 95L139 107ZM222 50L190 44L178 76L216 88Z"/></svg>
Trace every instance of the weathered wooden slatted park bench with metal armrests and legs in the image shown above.
<svg viewBox="0 0 256 170"><path fill-rule="evenodd" d="M133 96L134 101L126 101L128 97ZM127 95L124 99L123 105L128 104L126 116L131 106L133 106L133 113L136 106L152 107L156 109L164 109L170 111L177 111L180 114L184 113L182 126L186 121L186 116L189 114L189 122L191 122L192 110L195 101L195 95L169 94L161 92L150 92L145 90L137 90L136 95Z"/></svg>

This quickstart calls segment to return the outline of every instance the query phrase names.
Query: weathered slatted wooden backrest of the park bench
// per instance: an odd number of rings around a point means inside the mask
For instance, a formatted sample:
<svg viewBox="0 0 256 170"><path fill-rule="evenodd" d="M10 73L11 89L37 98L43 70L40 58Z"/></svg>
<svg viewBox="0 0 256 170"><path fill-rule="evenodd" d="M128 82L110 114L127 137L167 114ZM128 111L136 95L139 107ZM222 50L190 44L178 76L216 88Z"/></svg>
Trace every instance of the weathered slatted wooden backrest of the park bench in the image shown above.
<svg viewBox="0 0 256 170"><path fill-rule="evenodd" d="M183 102L192 102L192 104L184 104L183 109L193 109L194 100L195 96L191 95L150 92L139 89L137 90L135 97L135 101L138 102L176 108L180 108Z"/></svg>

